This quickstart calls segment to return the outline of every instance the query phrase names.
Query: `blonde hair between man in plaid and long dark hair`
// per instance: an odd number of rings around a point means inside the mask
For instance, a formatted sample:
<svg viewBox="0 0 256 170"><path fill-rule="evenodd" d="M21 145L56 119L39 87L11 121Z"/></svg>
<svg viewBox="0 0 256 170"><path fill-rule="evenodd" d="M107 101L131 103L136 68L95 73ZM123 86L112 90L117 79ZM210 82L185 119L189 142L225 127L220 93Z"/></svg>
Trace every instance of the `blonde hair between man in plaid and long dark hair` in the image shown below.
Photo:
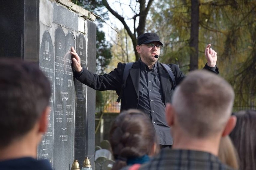
<svg viewBox="0 0 256 170"><path fill-rule="evenodd" d="M222 163L227 164L231 168L239 168L237 151L228 135L221 138L218 157Z"/></svg>

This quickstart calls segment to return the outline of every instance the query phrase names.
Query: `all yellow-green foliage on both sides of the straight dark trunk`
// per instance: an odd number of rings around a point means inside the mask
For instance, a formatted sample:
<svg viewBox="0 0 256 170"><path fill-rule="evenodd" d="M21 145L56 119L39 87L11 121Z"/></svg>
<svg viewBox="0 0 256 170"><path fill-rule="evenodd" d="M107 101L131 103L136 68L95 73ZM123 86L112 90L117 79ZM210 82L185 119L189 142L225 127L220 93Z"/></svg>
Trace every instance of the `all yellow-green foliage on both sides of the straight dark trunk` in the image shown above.
<svg viewBox="0 0 256 170"><path fill-rule="evenodd" d="M190 39L190 0L162 0L153 4L147 30L164 43L161 61L176 63L186 71ZM256 1L201 0L199 20L199 68L205 65L207 44L217 51L221 76L236 92L235 105L256 105ZM254 108L255 109L255 108Z"/></svg>

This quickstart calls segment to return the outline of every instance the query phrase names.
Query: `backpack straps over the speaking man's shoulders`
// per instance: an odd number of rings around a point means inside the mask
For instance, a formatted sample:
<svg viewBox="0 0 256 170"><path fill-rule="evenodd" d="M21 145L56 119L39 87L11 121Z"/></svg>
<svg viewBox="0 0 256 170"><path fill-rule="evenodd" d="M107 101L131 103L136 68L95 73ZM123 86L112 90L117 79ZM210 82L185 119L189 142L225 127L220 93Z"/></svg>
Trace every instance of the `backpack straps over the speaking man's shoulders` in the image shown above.
<svg viewBox="0 0 256 170"><path fill-rule="evenodd" d="M123 82L122 82L122 85L121 85L121 91L120 91L120 94L118 95L118 99L117 99L117 102L119 103L120 102L120 99L122 98L122 95L123 95L123 88L125 88L126 86L126 80L128 78L128 75L129 75L129 70L130 68L132 68L132 65L133 65L134 62L129 62L129 63L126 63L125 67L124 67L124 70L123 70ZM173 88L175 89L176 88L176 81L175 81L175 76L173 74L173 71L172 69L167 65L167 64L163 64L163 63L160 63L164 68L165 70L169 73L169 76L171 77L172 79L172 83L173 83Z"/></svg>

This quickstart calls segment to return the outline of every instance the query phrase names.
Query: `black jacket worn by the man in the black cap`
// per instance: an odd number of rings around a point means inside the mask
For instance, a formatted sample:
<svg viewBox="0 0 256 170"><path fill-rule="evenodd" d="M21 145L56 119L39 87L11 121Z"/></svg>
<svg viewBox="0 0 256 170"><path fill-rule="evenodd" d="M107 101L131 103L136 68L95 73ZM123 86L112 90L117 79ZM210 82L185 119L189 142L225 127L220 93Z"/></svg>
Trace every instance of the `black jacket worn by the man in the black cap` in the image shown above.
<svg viewBox="0 0 256 170"><path fill-rule="evenodd" d="M95 90L115 90L117 94L120 94L123 70L125 63L118 63L117 68L108 74L98 75L93 74L87 69L81 71L81 73L75 73L75 77L85 85L95 89ZM172 69L176 85L178 85L185 75L182 73L178 65L169 64ZM157 62L158 72L160 74L160 82L163 89L164 104L172 101L172 93L174 91L172 80L169 77L169 73L162 67L162 65ZM218 73L218 68L210 68L207 65L204 67L209 71ZM215 71L213 71L214 69ZM126 80L126 87L123 89L121 111L128 110L130 108L137 108L139 102L139 78L140 78L140 61L136 61L129 71L129 76ZM162 145L172 145L172 137L170 134L170 128L168 127L165 120L165 113L161 117L158 117L157 122L162 122L157 124L159 129L163 129L159 135L159 142ZM163 127L163 128L161 128ZM167 127L167 128L166 128Z"/></svg>

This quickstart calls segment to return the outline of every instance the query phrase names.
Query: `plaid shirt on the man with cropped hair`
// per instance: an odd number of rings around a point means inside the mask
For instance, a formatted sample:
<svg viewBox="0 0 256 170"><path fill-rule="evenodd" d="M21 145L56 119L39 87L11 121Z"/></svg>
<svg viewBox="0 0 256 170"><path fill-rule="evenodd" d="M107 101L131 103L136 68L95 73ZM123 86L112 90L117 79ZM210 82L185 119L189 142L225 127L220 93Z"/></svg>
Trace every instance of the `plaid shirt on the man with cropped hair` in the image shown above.
<svg viewBox="0 0 256 170"><path fill-rule="evenodd" d="M169 149L162 150L139 170L232 170L218 157L203 151Z"/></svg>

